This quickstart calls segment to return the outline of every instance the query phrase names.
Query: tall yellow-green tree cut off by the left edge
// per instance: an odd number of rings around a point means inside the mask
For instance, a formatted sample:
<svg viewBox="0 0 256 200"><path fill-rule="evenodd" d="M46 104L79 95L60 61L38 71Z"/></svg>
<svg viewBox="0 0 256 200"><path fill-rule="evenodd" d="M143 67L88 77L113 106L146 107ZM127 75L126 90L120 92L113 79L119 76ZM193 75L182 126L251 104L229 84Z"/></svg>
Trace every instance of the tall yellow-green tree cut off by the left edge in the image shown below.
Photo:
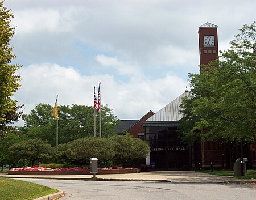
<svg viewBox="0 0 256 200"><path fill-rule="evenodd" d="M11 64L15 55L9 42L15 34L15 28L10 27L13 14L3 6L4 2L0 2L0 136L6 134L10 127L7 125L17 121L21 114L17 101L11 99L20 87L20 76L16 74L20 66Z"/></svg>

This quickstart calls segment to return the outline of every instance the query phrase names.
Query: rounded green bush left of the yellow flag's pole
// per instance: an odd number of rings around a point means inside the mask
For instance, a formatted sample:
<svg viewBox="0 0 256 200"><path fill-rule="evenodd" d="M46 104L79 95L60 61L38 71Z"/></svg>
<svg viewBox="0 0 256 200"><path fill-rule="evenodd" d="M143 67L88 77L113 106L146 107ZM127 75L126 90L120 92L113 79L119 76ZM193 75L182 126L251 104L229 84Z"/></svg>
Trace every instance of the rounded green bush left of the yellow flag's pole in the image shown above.
<svg viewBox="0 0 256 200"><path fill-rule="evenodd" d="M31 161L31 165L34 165L35 162L51 160L55 155L55 148L42 139L20 141L13 144L9 151L9 156L14 163L20 159L26 159Z"/></svg>

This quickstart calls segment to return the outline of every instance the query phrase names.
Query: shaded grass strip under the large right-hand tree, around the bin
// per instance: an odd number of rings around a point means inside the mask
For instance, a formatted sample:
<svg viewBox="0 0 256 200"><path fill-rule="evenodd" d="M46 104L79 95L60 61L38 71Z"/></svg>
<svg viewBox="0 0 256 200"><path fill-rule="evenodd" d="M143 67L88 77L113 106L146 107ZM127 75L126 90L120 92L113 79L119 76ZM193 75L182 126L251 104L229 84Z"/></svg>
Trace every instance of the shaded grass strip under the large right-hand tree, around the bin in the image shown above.
<svg viewBox="0 0 256 200"><path fill-rule="evenodd" d="M209 173L210 175L218 175L218 176L230 176L233 178L238 178L238 179L256 179L256 170L255 169L249 169L246 172L246 176L234 176L234 171L233 170L214 170L211 172L210 170L201 170L197 172L202 172L202 173Z"/></svg>

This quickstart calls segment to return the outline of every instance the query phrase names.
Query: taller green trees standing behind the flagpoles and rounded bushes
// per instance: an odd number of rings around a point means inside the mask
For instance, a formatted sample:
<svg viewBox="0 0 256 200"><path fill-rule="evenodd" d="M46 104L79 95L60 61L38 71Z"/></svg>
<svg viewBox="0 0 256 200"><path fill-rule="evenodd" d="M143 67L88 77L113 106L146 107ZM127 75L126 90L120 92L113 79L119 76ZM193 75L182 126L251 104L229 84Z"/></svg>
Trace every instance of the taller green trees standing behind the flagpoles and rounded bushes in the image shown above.
<svg viewBox="0 0 256 200"><path fill-rule="evenodd" d="M59 144L71 142L77 138L93 136L93 107L85 105L59 105ZM23 117L25 124L20 133L27 138L41 138L54 146L56 144L56 120L52 116L49 104L38 104L30 114ZM102 137L115 134L117 118L108 106L101 108ZM96 116L98 133L99 116Z"/></svg>

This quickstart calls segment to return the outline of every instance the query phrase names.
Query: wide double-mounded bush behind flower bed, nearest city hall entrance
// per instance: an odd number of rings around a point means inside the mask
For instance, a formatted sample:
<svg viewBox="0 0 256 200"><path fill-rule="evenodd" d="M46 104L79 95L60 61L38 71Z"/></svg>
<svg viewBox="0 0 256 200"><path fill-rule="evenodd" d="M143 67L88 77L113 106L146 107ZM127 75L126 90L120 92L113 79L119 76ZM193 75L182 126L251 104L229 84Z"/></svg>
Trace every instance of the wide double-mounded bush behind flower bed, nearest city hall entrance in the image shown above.
<svg viewBox="0 0 256 200"><path fill-rule="evenodd" d="M84 137L60 144L56 154L56 163L66 163L65 167L88 167L90 158L98 159L98 166L132 165L142 163L150 152L148 144L131 135L114 135L113 137Z"/></svg>

